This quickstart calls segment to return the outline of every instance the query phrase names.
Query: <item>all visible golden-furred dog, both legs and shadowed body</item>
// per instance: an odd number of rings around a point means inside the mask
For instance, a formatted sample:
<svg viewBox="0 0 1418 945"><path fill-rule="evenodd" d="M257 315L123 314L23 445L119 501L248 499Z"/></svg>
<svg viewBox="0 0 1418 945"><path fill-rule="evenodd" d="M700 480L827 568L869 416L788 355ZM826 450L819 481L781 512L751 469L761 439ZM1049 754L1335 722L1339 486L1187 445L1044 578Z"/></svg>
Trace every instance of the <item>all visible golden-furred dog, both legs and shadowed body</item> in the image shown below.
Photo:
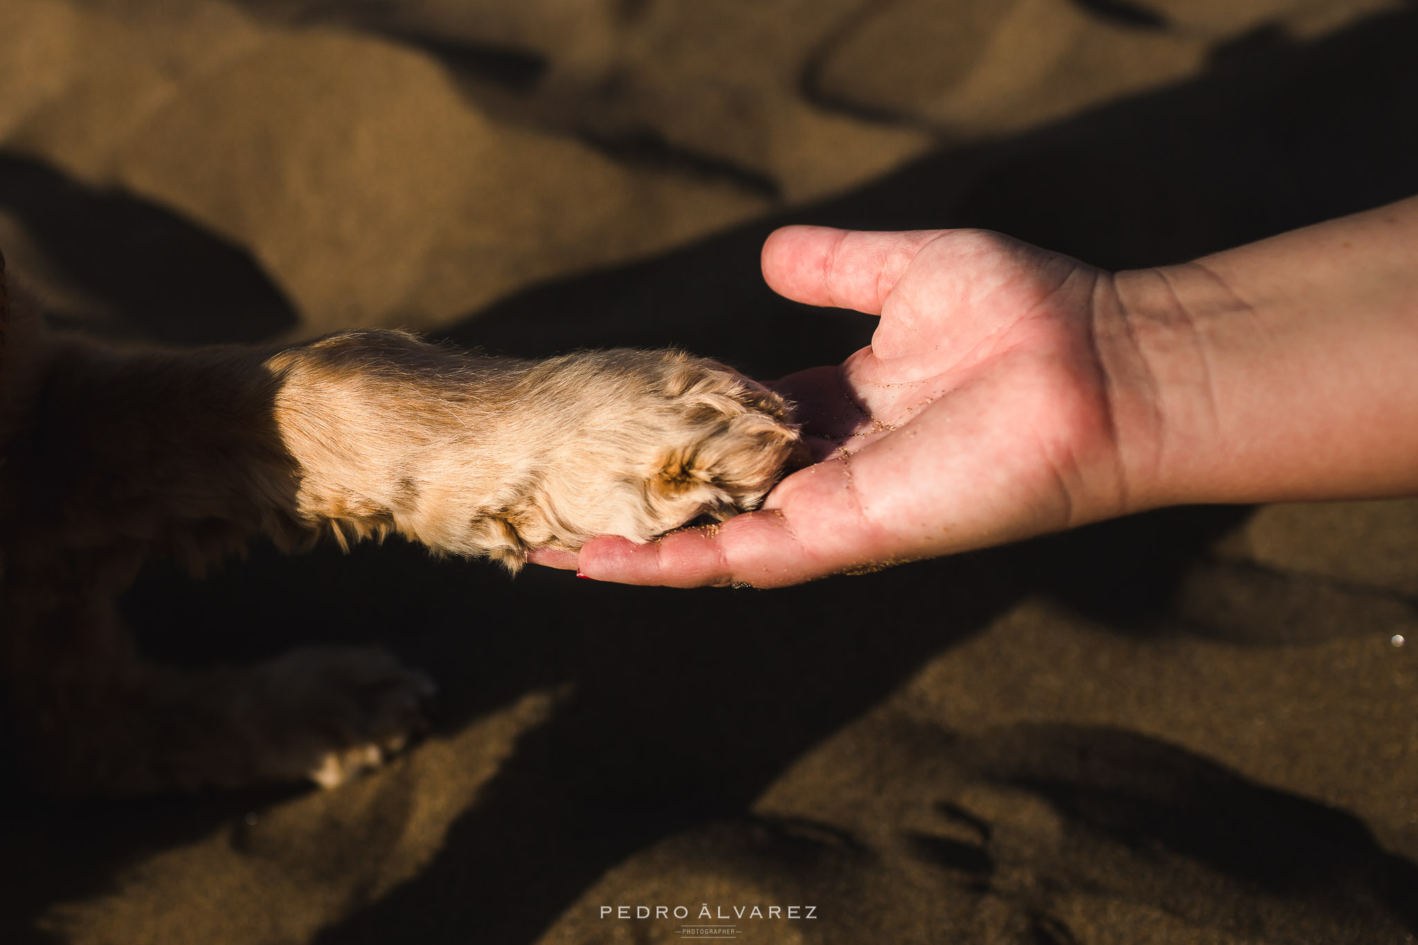
<svg viewBox="0 0 1418 945"><path fill-rule="evenodd" d="M282 350L118 347L45 327L0 262L0 669L28 768L71 792L313 778L415 734L427 677L369 647L187 672L115 601L150 554L194 572L269 536L398 533L516 571L756 507L805 458L788 405L679 351L546 361L400 332Z"/></svg>

